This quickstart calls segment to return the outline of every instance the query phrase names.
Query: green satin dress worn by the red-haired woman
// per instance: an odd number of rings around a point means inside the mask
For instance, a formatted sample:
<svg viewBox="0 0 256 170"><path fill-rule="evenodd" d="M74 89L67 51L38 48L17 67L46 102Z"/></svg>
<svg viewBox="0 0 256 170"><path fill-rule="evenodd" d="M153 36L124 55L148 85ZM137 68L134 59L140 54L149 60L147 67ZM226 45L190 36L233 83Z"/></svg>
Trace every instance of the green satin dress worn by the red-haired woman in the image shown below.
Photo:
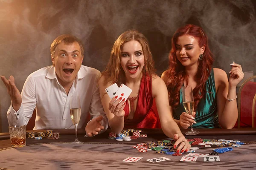
<svg viewBox="0 0 256 170"><path fill-rule="evenodd" d="M216 89L214 81L213 69L206 82L207 93L198 103L198 108L195 114L195 128L221 128L218 122ZM210 93L209 93L210 92ZM180 105L174 109L174 119L179 120L182 112L186 112L182 102L182 91L180 90Z"/></svg>

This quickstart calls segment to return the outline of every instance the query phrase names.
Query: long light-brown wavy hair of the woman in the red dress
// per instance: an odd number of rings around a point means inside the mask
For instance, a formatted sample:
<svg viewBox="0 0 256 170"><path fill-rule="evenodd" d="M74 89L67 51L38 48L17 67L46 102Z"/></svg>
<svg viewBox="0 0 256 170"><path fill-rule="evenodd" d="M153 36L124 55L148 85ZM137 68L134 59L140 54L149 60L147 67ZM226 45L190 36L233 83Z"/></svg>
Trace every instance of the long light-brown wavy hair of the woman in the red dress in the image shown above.
<svg viewBox="0 0 256 170"><path fill-rule="evenodd" d="M108 65L105 68L105 70L102 72L102 76L105 77L104 84L116 83L119 86L122 83L125 83L125 72L123 71L121 62L120 62L121 51L122 51L122 45L124 45L125 42L131 41L131 40L136 40L140 42L140 45L142 46L143 55L145 57L145 66L143 69L143 74L147 74L150 77L152 77L152 75L155 74L154 61L153 61L152 54L150 52L148 40L139 31L129 30L122 33L116 39L112 47Z"/></svg>

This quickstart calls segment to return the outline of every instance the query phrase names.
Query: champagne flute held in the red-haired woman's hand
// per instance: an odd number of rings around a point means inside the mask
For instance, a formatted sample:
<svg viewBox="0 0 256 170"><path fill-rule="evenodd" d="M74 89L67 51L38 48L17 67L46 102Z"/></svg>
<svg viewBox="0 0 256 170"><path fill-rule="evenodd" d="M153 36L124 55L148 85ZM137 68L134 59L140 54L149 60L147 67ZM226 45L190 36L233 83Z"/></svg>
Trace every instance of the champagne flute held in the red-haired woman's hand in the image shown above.
<svg viewBox="0 0 256 170"><path fill-rule="evenodd" d="M190 85L182 86L182 100L183 100L183 106L185 108L186 113L189 115L192 115L194 111L194 96L193 91ZM191 130L186 132L186 135L197 135L199 131L193 130L193 127L191 125Z"/></svg>

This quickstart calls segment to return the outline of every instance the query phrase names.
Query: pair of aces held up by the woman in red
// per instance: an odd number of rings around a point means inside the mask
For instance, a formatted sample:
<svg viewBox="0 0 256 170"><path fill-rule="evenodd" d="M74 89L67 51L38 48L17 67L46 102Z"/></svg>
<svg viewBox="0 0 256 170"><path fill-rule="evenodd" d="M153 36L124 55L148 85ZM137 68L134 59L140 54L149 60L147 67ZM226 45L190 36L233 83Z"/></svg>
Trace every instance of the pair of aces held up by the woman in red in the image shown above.
<svg viewBox="0 0 256 170"><path fill-rule="evenodd" d="M118 98L122 97L122 99L125 99L125 101L127 100L127 98L130 96L130 94L132 92L131 88L128 88L124 84L120 85L120 88L118 88L116 83L111 85L111 86L109 86L108 88L106 88L105 91L107 92L108 96L111 99L114 96L118 96Z"/></svg>

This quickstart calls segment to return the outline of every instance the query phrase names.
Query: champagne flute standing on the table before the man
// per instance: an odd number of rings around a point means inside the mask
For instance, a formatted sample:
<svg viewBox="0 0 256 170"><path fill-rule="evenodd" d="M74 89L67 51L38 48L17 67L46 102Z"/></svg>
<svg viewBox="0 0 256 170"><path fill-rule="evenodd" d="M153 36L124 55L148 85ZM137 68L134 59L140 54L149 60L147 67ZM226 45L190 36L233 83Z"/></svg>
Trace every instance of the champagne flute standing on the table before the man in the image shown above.
<svg viewBox="0 0 256 170"><path fill-rule="evenodd" d="M80 116L81 116L81 106L80 106L79 96L72 96L70 99L70 116L76 128L76 140L75 142L71 142L70 144L83 144L83 142L79 142L77 139L77 125L80 121Z"/></svg>

